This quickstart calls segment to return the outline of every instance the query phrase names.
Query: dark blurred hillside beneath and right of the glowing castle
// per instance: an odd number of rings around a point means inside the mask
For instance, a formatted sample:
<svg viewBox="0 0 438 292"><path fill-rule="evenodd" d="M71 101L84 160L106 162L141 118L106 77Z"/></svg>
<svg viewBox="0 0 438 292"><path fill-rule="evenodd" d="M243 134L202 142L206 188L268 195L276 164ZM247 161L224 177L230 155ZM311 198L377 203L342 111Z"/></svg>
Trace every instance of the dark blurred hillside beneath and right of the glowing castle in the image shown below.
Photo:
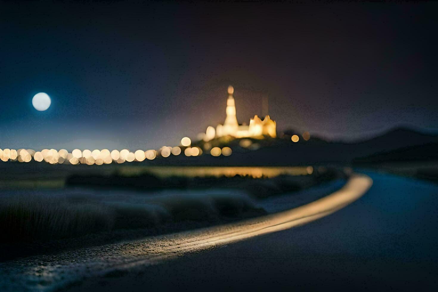
<svg viewBox="0 0 438 292"><path fill-rule="evenodd" d="M325 141L312 137L296 143L286 132L283 138L233 139L221 137L209 141L210 147L229 146L230 157L202 155L186 157L179 155L172 159L155 159L154 165L326 165L350 164L352 162L381 162L391 160L437 159L438 136L424 134L407 128L396 128L368 140L353 143ZM289 135L288 135L289 134ZM193 143L204 149L205 142Z"/></svg>

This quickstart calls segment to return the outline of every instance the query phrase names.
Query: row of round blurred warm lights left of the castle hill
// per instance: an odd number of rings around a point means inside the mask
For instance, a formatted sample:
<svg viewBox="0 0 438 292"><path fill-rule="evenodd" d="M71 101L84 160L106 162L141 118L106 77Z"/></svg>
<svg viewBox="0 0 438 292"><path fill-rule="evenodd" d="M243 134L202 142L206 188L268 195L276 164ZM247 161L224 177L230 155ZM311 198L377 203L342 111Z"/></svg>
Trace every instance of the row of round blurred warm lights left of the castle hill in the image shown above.
<svg viewBox="0 0 438 292"><path fill-rule="evenodd" d="M199 147L190 147L191 140L188 137L184 137L181 140L181 145L186 147L184 149L184 155L186 156L200 156L203 151ZM56 149L43 149L42 151L34 151L32 149L0 149L0 159L4 162L8 160L18 161L18 162L30 162L32 158L37 162L48 162L50 164L87 164L87 165L102 165L102 164L110 164L112 162L124 163L124 162L133 162L133 161L144 161L145 159L152 160L157 156L169 157L172 155L180 155L182 152L179 146L170 147L163 146L158 151L157 150L137 150L135 152L131 152L127 149L123 149L121 151L113 150L109 151L108 149L103 150L93 150L90 151L88 149L81 151L80 149L74 149L69 153L65 149L61 149L57 151ZM212 156L230 156L232 153L231 148L224 147L214 147L210 150L210 154Z"/></svg>

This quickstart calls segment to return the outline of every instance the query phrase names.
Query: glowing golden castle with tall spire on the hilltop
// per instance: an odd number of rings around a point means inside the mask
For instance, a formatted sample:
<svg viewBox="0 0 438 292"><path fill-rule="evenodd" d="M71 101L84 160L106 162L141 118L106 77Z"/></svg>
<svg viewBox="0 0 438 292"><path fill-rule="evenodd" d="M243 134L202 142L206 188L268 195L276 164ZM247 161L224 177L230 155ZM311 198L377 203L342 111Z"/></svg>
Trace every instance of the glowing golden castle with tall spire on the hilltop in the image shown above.
<svg viewBox="0 0 438 292"><path fill-rule="evenodd" d="M271 120L269 116L261 120L257 115L254 116L247 125L239 125L236 117L236 105L234 102L234 88L228 87L228 99L226 100L226 118L223 125L219 124L216 130L213 127L208 127L205 133L205 140L211 140L214 137L223 137L230 135L236 138L243 137L262 137L262 135L277 137L276 122Z"/></svg>

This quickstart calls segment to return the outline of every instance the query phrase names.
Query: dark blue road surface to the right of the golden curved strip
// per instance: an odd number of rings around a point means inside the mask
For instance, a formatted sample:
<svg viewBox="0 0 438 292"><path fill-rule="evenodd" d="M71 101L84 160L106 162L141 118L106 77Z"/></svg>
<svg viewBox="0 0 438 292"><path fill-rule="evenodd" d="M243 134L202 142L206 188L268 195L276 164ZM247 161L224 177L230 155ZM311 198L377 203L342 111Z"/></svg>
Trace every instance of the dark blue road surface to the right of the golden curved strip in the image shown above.
<svg viewBox="0 0 438 292"><path fill-rule="evenodd" d="M438 185L367 174L364 197L316 222L68 291L437 291Z"/></svg>

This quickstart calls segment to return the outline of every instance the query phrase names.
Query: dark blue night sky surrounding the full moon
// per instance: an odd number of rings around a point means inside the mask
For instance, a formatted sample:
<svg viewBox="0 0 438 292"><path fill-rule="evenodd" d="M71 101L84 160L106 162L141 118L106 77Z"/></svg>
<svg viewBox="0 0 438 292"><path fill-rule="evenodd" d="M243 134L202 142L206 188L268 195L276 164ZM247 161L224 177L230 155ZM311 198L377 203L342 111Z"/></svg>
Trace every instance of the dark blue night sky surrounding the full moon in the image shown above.
<svg viewBox="0 0 438 292"><path fill-rule="evenodd" d="M237 118L438 129L434 3L0 4L0 148L159 148ZM46 92L47 111L32 107Z"/></svg>

